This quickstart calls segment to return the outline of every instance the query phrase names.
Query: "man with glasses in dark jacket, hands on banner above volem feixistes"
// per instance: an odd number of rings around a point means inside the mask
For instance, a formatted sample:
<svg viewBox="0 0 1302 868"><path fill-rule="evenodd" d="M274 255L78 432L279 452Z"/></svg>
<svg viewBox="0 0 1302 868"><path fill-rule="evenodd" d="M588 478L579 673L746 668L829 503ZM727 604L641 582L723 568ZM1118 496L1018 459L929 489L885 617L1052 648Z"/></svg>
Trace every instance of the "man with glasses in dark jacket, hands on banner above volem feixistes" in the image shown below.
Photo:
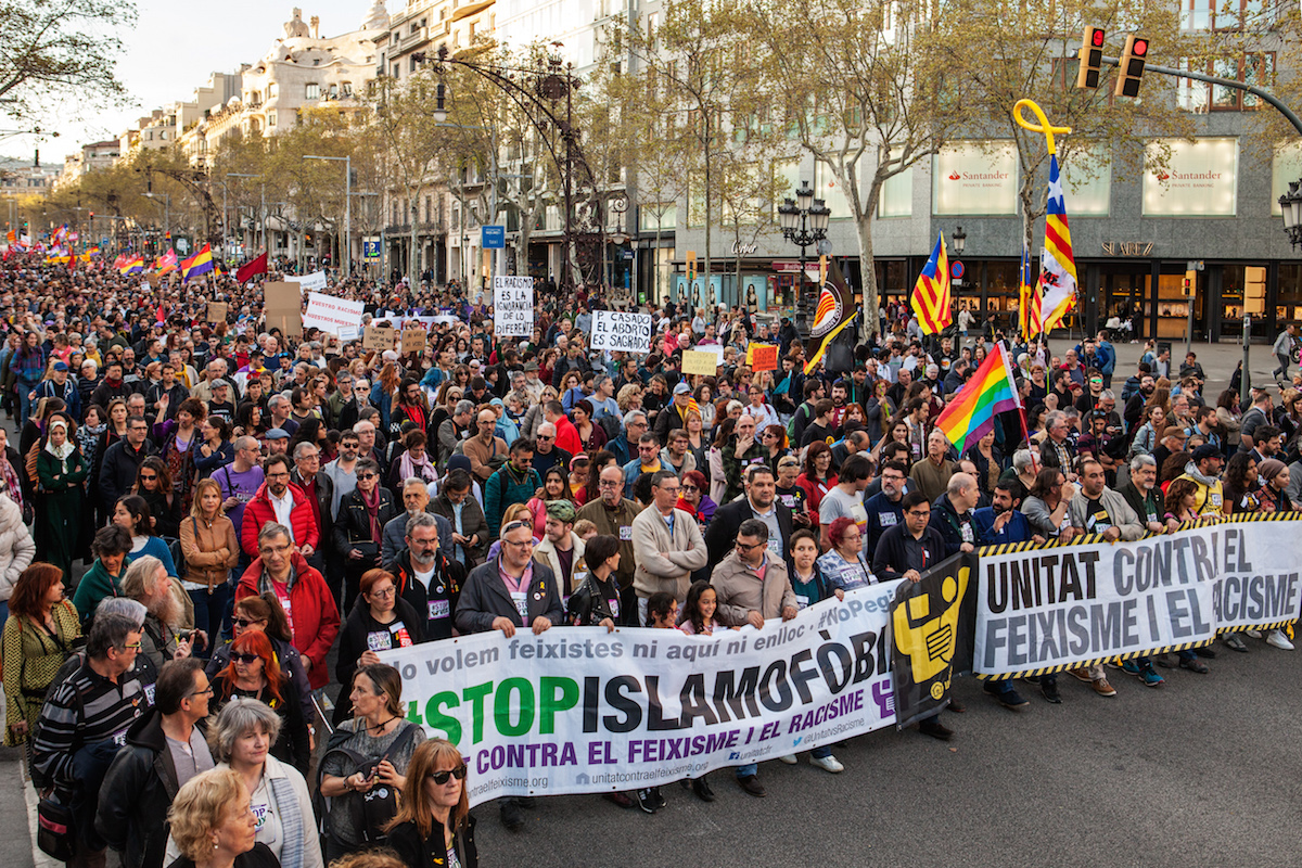
<svg viewBox="0 0 1302 868"><path fill-rule="evenodd" d="M501 553L466 576L457 600L457 630L462 634L500 630L510 639L516 629L542 635L561 623L560 586L551 567L534 560L534 530L529 522L501 528ZM501 799L501 824L512 832L525 825L522 800Z"/></svg>

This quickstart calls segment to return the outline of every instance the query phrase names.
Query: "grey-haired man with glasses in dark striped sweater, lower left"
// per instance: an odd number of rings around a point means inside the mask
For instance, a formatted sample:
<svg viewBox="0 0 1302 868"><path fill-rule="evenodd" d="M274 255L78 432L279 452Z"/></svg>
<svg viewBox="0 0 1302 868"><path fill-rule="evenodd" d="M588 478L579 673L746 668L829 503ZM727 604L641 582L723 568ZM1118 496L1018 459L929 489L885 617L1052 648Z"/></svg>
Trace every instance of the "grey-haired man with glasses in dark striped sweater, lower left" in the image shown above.
<svg viewBox="0 0 1302 868"><path fill-rule="evenodd" d="M40 709L31 746L38 787L52 787L68 806L78 830L92 829L99 787L126 731L148 708L133 668L141 653L143 627L121 614L99 614L86 638L85 657L52 687ZM104 847L76 835L76 868L104 865Z"/></svg>

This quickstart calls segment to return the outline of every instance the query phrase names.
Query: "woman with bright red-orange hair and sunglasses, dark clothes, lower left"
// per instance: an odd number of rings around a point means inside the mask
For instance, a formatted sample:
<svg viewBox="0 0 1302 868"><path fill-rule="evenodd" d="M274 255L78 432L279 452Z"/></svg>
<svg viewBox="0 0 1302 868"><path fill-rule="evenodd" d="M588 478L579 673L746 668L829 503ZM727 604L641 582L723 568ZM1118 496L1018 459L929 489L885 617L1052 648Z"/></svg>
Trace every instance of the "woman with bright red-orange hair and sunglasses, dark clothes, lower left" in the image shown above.
<svg viewBox="0 0 1302 868"><path fill-rule="evenodd" d="M271 639L260 630L247 630L230 643L230 664L212 679L216 704L211 714L221 713L233 696L260 700L280 716L283 725L271 755L307 774L311 759L307 718L298 691L285 681Z"/></svg>

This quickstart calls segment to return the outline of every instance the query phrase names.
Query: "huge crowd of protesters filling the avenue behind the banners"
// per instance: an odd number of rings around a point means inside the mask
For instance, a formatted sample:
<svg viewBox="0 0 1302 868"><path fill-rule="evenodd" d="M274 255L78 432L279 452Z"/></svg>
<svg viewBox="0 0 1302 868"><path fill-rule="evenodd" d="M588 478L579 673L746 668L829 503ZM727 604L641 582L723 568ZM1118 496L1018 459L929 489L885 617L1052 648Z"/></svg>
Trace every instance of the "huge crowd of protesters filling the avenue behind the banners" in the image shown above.
<svg viewBox="0 0 1302 868"><path fill-rule="evenodd" d="M405 720L383 651L566 626L721 636L980 545L1133 540L1302 493L1297 388L1204 397L1193 354L1117 370L1107 332L1057 357L992 321L922 338L892 306L887 336L806 373L792 323L743 310L644 308L652 346L624 354L589 347L603 299L583 292L539 293L527 337L496 334L483 298L331 292L367 324L436 319L426 349L268 328L260 286L229 277L0 265L5 743L72 816L72 865L111 848L129 868L319 868L383 843L408 868L474 865L466 766ZM777 370L747 366L755 342ZM935 420L996 342L1026 411L960 454ZM687 349L717 353L715 373L681 373ZM1293 648L1279 630L1223 647L1247 640ZM1069 674L1112 698L1117 673L1161 687L1157 668L1215 656ZM1064 700L1056 675L1035 688ZM939 716L918 731L954 735ZM831 746L810 763L844 770ZM734 777L767 794L758 766ZM499 806L525 826L529 799Z"/></svg>

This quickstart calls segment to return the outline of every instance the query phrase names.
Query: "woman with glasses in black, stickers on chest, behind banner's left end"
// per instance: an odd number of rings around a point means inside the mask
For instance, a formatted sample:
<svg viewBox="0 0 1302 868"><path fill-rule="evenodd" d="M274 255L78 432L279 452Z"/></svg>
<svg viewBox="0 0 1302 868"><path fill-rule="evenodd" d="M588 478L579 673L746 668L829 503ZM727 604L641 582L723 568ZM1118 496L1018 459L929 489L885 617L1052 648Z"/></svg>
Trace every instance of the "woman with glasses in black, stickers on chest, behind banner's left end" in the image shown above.
<svg viewBox="0 0 1302 868"><path fill-rule="evenodd" d="M367 570L362 574L361 588L361 599L339 634L335 678L341 685L353 683L353 673L358 668L379 664L376 652L410 648L424 642L424 618L417 616L411 604L398 596L392 573ZM353 703L348 696L340 696L335 704L333 725L339 726L352 716Z"/></svg>

